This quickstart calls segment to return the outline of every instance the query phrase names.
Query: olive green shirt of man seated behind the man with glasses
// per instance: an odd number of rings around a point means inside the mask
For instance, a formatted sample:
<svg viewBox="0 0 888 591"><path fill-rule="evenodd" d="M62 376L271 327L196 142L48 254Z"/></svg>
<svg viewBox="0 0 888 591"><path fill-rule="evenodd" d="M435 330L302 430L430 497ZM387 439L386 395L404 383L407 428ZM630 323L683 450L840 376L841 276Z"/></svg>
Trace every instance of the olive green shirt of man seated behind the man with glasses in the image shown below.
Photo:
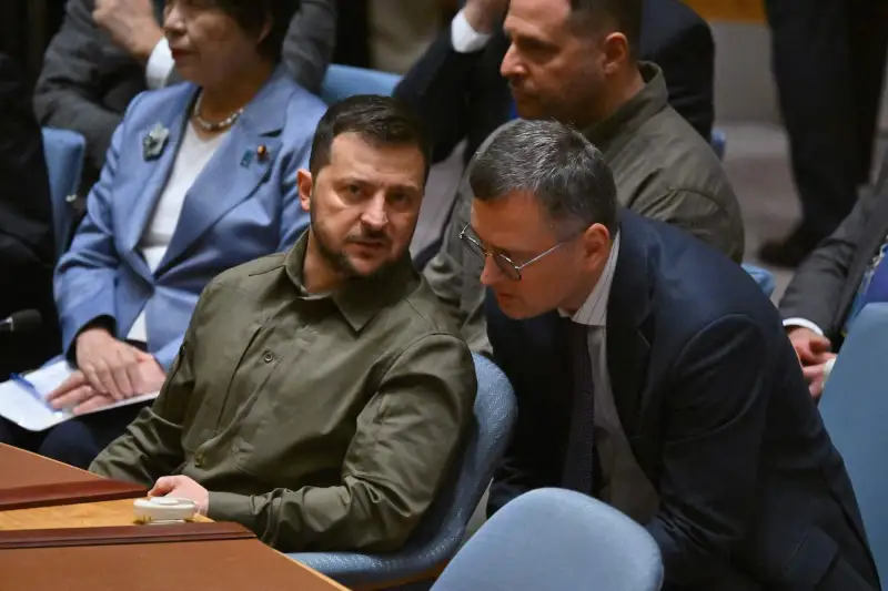
<svg viewBox="0 0 888 591"><path fill-rule="evenodd" d="M645 86L613 115L583 131L602 151L614 174L617 200L622 206L682 227L741 262L743 217L718 156L669 106L660 69L647 62L640 63L639 69ZM498 130L482 149L496 133ZM490 354L480 281L483 263L460 240L471 217L472 197L466 174L441 251L423 274L472 350Z"/></svg>

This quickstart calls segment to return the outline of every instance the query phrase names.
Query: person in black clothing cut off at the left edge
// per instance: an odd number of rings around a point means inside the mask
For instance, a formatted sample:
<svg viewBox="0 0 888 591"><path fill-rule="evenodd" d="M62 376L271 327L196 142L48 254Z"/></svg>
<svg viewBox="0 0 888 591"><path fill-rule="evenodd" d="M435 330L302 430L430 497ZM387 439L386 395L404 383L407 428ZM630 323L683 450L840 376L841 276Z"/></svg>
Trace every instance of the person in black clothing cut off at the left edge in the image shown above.
<svg viewBox="0 0 888 591"><path fill-rule="evenodd" d="M0 319L22 309L43 318L27 334L0 334L0 381L59 350L52 227L43 142L24 75L0 54Z"/></svg>

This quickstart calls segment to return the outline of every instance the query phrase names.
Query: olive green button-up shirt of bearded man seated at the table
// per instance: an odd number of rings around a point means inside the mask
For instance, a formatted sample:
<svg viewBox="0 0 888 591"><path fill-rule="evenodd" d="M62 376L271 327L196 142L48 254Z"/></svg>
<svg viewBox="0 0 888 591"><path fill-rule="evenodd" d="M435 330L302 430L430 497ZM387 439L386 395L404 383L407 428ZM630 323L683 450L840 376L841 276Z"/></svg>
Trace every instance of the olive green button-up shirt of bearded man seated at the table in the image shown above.
<svg viewBox="0 0 888 591"><path fill-rule="evenodd" d="M393 550L471 420L472 356L407 257L309 295L306 236L206 287L153 407L90 469L190 477L282 551Z"/></svg>

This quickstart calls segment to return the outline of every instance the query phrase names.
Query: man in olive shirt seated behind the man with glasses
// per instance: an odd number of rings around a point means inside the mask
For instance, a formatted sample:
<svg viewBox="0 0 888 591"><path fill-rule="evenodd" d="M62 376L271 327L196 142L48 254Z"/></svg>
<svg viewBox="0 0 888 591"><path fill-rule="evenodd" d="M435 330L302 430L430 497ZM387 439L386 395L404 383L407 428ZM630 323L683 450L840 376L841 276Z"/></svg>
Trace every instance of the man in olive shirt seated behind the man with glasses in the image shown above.
<svg viewBox="0 0 888 591"><path fill-rule="evenodd" d="M640 0L575 2L573 9L571 4L508 3L504 29L512 44L501 71L518 114L584 130L604 153L623 206L679 226L739 263L743 218L718 157L668 105L660 69L635 58ZM482 265L460 240L473 197L466 179L441 252L424 274L472 349L487 354Z"/></svg>

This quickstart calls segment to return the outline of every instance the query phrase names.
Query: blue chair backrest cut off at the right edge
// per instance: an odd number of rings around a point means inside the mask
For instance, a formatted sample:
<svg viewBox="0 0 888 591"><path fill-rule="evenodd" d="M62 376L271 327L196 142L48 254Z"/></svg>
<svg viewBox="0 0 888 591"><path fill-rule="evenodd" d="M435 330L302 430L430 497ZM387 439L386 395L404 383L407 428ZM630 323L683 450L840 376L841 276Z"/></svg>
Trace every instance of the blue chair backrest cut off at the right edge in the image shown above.
<svg viewBox="0 0 888 591"><path fill-rule="evenodd" d="M855 319L820 398L820 416L854 483L879 577L888 581L888 304Z"/></svg>

